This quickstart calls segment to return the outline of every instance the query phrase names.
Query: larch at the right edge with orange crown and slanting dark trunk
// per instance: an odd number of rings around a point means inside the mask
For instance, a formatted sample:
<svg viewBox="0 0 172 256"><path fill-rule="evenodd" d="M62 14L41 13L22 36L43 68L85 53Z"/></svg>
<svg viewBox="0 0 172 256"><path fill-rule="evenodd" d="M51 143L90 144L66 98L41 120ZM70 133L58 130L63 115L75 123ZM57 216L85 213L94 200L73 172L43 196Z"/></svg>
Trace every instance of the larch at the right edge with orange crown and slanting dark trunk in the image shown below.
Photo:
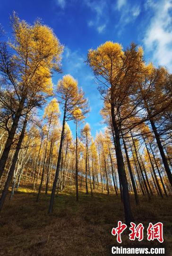
<svg viewBox="0 0 172 256"><path fill-rule="evenodd" d="M153 64L148 64L148 72L145 74L144 83L139 84L140 97L143 99L143 106L147 111L148 120L155 135L156 143L163 160L163 165L172 186L172 173L166 159L160 134L156 128L156 121L161 118L164 111L171 109L172 105L172 85L171 75L163 67L155 68Z"/></svg>

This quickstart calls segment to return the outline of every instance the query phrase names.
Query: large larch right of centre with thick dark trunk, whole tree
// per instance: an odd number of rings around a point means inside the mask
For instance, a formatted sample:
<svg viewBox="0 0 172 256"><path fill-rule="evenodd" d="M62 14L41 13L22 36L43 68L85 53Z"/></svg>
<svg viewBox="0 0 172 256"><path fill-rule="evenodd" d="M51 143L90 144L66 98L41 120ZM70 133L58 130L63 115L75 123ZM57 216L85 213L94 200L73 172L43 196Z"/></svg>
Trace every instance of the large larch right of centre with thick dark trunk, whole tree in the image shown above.
<svg viewBox="0 0 172 256"><path fill-rule="evenodd" d="M115 137L115 151L118 172L122 183L123 203L126 223L133 220L129 203L129 190L127 177L123 166L123 157L120 143L121 131L121 108L129 101L136 88L133 84L138 83L140 72L143 69L143 52L132 44L126 51L118 43L106 42L96 50L89 50L87 63L93 69L95 77L101 83L100 94L104 100L108 100L111 108L112 127ZM133 107L135 108L135 107ZM132 111L131 111L132 113Z"/></svg>

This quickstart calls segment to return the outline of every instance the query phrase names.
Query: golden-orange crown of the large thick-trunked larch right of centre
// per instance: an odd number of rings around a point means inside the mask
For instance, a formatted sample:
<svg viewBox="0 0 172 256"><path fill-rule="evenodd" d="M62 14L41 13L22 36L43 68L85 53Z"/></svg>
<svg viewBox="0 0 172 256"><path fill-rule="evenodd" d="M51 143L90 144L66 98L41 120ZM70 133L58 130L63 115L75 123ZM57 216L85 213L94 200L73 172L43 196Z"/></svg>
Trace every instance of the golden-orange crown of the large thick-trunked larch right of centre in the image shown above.
<svg viewBox="0 0 172 256"><path fill-rule="evenodd" d="M88 51L87 63L95 75L102 78L101 94L110 93L109 98L116 104L128 101L127 97L135 93L145 72L143 49L135 44L123 51L120 44L107 41L96 50Z"/></svg>

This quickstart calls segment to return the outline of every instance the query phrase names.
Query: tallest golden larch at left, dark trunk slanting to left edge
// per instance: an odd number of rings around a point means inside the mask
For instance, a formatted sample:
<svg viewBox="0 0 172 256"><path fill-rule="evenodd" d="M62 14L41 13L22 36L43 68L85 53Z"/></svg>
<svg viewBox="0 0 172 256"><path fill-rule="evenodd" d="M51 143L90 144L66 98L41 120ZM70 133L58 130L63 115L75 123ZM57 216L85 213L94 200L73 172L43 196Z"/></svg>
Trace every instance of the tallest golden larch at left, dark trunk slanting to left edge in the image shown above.
<svg viewBox="0 0 172 256"><path fill-rule="evenodd" d="M34 107L41 107L52 95L52 70L60 71L63 46L52 29L36 20L31 26L14 13L11 18L13 38L0 43L0 75L3 92L10 93L12 123L6 120L8 138L0 158L0 177L8 159L19 119ZM3 97L0 98L3 101ZM11 105L10 105L11 107ZM9 125L9 127L8 127Z"/></svg>

